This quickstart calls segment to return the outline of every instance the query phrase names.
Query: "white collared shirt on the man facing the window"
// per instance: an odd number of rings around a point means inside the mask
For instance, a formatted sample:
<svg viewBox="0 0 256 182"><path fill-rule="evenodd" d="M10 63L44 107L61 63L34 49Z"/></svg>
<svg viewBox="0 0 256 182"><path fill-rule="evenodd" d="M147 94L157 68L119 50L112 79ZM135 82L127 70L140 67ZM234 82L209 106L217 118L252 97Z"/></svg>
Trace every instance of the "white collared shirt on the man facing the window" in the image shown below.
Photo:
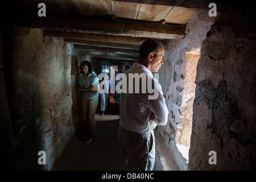
<svg viewBox="0 0 256 182"><path fill-rule="evenodd" d="M146 133L156 127L156 125L166 125L168 119L168 109L163 97L162 86L153 77L151 71L139 63L134 63L133 67L125 72L127 81L129 73L144 73L146 77L152 79L157 90L158 97L149 100L148 91L146 93L121 93L120 98L120 126L128 131ZM145 85L140 81L140 86ZM127 89L128 90L128 89ZM154 113L154 121L149 122L148 117Z"/></svg>

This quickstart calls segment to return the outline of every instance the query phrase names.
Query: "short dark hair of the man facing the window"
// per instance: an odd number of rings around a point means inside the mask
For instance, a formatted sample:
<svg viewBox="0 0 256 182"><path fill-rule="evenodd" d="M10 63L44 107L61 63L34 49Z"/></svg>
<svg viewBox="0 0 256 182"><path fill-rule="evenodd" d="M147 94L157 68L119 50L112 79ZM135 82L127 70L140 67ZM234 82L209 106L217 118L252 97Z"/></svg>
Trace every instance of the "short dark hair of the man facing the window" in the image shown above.
<svg viewBox="0 0 256 182"><path fill-rule="evenodd" d="M160 48L162 47L163 47L163 44L160 43L158 40L148 39L144 41L141 44L141 47L139 48L139 59L143 59L150 52L153 52L154 54L156 52L159 52Z"/></svg>

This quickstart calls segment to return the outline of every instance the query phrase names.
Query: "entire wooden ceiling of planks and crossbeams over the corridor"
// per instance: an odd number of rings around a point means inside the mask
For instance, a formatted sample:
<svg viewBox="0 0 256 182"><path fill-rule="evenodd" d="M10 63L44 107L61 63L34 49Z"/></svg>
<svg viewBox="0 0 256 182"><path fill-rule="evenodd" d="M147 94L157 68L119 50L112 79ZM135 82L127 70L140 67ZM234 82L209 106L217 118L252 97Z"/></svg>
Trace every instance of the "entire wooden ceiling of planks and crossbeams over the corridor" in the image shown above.
<svg viewBox="0 0 256 182"><path fill-rule="evenodd" d="M185 24L204 10L164 5L168 0L160 5L122 0L10 1L19 10L31 12L39 10L39 3L46 4L46 17L21 15L16 24L44 28L46 36L65 38L88 55L103 57L108 52L128 60L137 59L139 45L147 38L184 38Z"/></svg>

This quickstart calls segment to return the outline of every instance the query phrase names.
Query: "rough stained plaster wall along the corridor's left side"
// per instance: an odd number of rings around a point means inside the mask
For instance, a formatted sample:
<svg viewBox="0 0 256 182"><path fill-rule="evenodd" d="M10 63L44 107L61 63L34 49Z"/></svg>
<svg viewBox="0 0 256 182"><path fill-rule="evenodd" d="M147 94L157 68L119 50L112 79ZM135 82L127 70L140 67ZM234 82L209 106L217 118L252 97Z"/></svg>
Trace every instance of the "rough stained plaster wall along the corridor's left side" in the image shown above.
<svg viewBox="0 0 256 182"><path fill-rule="evenodd" d="M9 109L15 134L12 169L51 169L72 137L72 49L43 30L15 27L10 43ZM6 43L7 43L6 42ZM6 68L7 69L7 68ZM11 98L11 99L10 99ZM11 105L11 106L10 106ZM39 166L38 151L46 152Z"/></svg>

